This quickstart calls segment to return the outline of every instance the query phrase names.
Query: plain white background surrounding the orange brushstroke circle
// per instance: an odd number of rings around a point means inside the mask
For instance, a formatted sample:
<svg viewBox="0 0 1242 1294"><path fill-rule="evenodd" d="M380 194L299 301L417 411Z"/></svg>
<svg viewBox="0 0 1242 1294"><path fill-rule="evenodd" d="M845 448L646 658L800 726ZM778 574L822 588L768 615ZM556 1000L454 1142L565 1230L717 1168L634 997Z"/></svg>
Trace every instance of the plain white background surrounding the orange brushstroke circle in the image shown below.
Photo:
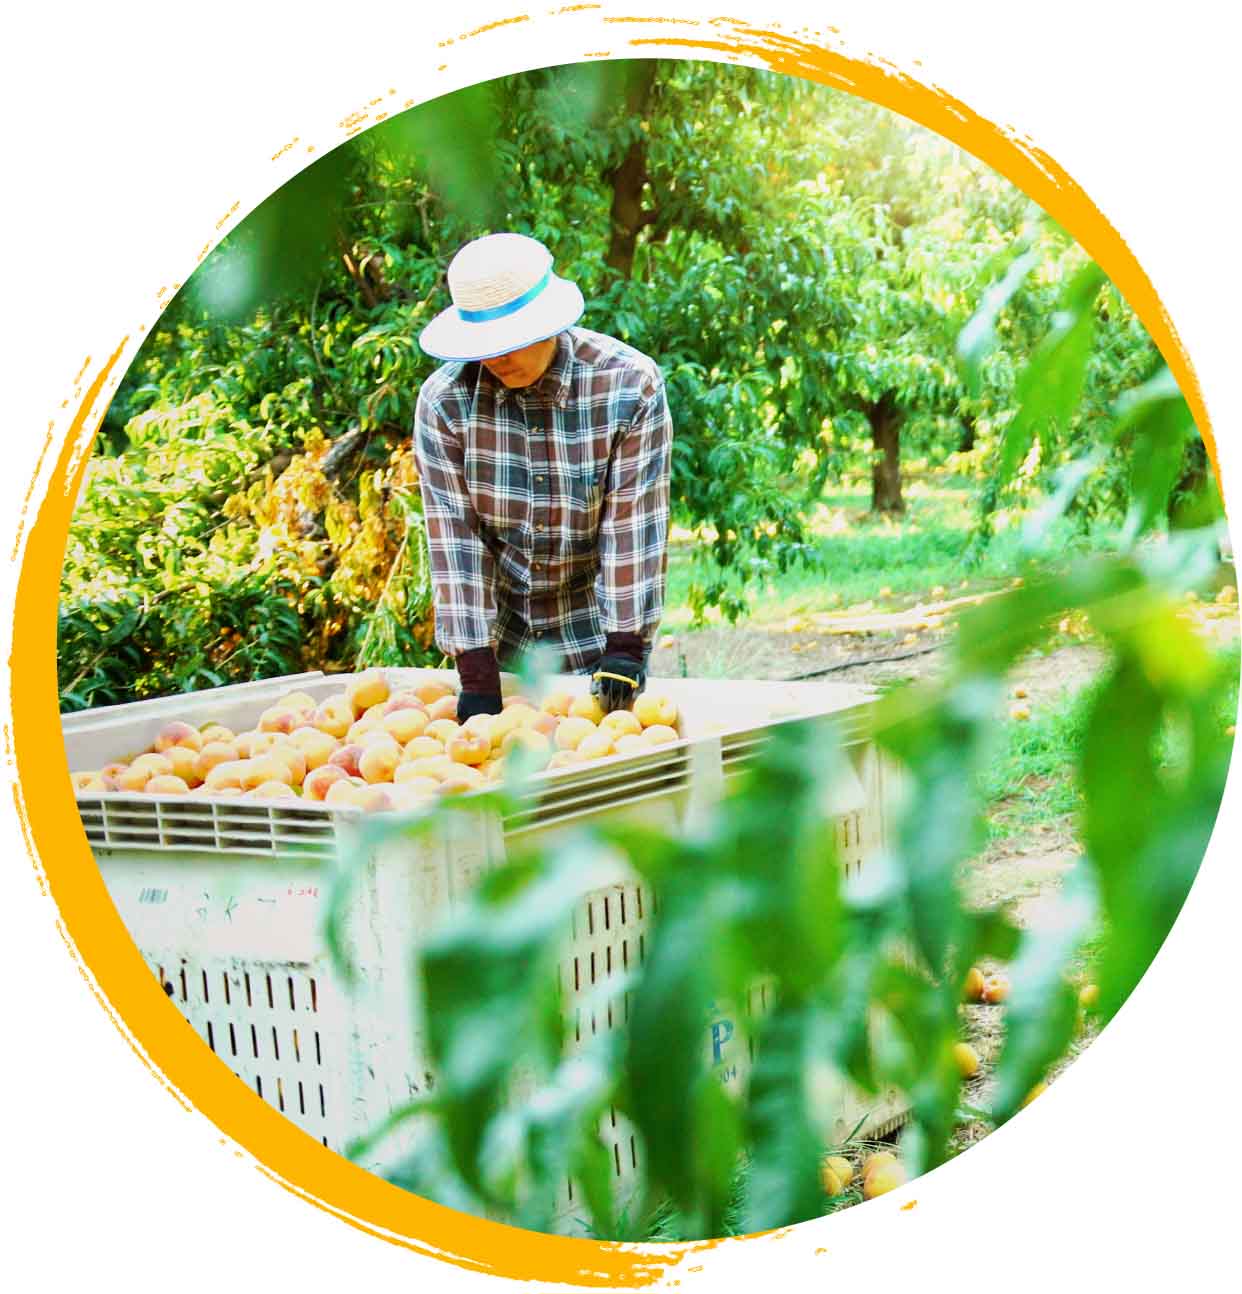
<svg viewBox="0 0 1242 1294"><path fill-rule="evenodd" d="M420 100L590 49L620 52L625 35L587 13L437 49L440 39L521 9L417 12L361 0L210 10L40 3L10 17L0 217L5 533L48 422L63 431L61 401L84 358L93 371L127 333L132 348L155 321L158 290L189 274L234 202L243 215L304 160L305 144L323 151L339 138L338 122L389 88L400 102ZM713 8L634 0L612 12ZM761 25L772 16L832 23L854 53L920 58L922 79L1013 123L1079 180L1146 267L1189 348L1226 496L1236 497L1239 98L1228 6L744 0L727 12ZM449 70L436 72L444 61ZM300 145L273 164L294 136ZM4 578L8 600L14 572ZM701 1281L677 1273L683 1284L822 1285L869 1272L869 1286L882 1289L1106 1281L1146 1290L1228 1272L1239 1149L1238 820L1232 784L1190 902L1148 980L1021 1118L899 1198L784 1241L726 1246ZM106 1273L135 1291L501 1288L329 1219L221 1146L215 1128L160 1090L92 998L53 905L38 893L12 811L0 831L0 1154L9 1187L0 1269L47 1289ZM899 1212L911 1197L919 1206ZM810 1256L812 1246L828 1253Z"/></svg>

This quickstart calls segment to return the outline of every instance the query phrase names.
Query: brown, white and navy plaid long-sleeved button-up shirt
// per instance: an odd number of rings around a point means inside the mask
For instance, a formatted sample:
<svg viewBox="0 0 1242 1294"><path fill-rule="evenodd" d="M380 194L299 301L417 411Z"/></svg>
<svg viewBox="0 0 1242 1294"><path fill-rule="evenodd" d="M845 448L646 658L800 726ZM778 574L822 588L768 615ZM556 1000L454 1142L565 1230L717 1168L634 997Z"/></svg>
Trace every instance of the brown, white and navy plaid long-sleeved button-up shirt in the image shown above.
<svg viewBox="0 0 1242 1294"><path fill-rule="evenodd" d="M647 356L571 327L527 388L481 364L439 367L418 395L414 448L448 656L508 664L558 646L594 664L608 633L648 643L664 611L673 424Z"/></svg>

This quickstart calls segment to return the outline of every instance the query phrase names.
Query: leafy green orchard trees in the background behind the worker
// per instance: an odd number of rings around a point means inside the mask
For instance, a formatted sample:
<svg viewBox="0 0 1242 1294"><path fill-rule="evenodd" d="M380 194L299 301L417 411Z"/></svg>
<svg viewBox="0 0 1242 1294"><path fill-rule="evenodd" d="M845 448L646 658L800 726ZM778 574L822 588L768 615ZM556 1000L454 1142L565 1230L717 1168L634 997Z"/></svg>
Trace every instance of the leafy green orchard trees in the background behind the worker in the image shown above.
<svg viewBox="0 0 1242 1294"><path fill-rule="evenodd" d="M903 455L974 474L986 531L1159 367L1093 281L1091 326L1062 347L1082 401L1009 440L1017 374L1087 258L885 109L675 60L472 87L294 176L144 342L72 523L63 708L435 663L410 450L435 361L417 336L449 304L453 252L499 228L545 239L583 324L661 364L700 616L736 617L756 584L814 567L806 516L829 480L871 479L873 507L900 510ZM1017 471L1003 443L1025 446ZM1071 510L1120 516L1128 498L1113 458Z"/></svg>

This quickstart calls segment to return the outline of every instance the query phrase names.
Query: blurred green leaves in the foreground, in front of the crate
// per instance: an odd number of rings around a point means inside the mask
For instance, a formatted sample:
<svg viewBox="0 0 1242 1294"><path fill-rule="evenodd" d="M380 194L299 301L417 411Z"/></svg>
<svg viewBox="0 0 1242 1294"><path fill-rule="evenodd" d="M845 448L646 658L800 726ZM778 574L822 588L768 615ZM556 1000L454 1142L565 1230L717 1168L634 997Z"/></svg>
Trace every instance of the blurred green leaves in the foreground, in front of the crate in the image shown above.
<svg viewBox="0 0 1242 1294"><path fill-rule="evenodd" d="M1080 399L1091 299L1092 282L1076 280L1021 378L1027 395L1001 445L1001 484L1034 428L1063 422ZM1017 1113L1080 1026L1079 959L1092 958L1091 1009L1106 1022L1177 916L1220 805L1237 657L1215 653L1185 619L1185 594L1219 571L1215 489L1179 488L1192 435L1167 375L1136 386L1107 439L1032 512L1021 580L960 617L937 681L876 704L871 736L904 770L904 795L889 846L856 879L844 876L823 809L841 753L805 722L774 730L749 782L699 831L600 826L486 876L417 950L432 1095L356 1153L414 1121L419 1137L392 1180L534 1229L552 1228L565 1178L599 1237L784 1227L840 1205L823 1193L819 1161L841 1149L845 1079L873 1096L889 1086L907 1095L902 1144L913 1172L950 1153L964 1117L952 1047L963 981L979 959L1005 963L1013 987L990 1109L969 1114L999 1124ZM1065 562L1048 536L1101 454L1122 444L1129 510L1118 549ZM1181 524L1155 537L1175 496ZM969 906L961 876L983 839L981 787L1004 740L1007 674L1067 615L1085 617L1107 653L1075 762L1083 851L1043 919L1019 928ZM490 807L505 811L511 793ZM445 804L371 829L413 837L440 815L486 807ZM627 1018L574 1043L558 987L571 912L634 875L659 907L646 956L624 983L605 982L627 996ZM336 911L349 883L347 870ZM731 1091L706 1031L722 1003L736 1008L758 983L768 1009L734 1011L756 1058ZM611 1112L637 1131L629 1201L611 1190L599 1136Z"/></svg>

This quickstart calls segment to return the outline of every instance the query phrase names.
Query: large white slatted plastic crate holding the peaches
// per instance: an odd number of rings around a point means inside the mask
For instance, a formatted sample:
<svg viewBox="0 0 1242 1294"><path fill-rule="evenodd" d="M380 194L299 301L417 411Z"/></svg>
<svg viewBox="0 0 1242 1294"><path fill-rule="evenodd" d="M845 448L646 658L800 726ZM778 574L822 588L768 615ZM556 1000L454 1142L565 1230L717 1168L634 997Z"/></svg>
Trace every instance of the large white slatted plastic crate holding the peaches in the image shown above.
<svg viewBox="0 0 1242 1294"><path fill-rule="evenodd" d="M452 672L386 672L395 690ZM171 718L254 726L278 696L340 691L348 675L304 674L212 692L107 707L63 718L70 769L101 767L147 749ZM516 681L505 679L505 692ZM587 681L556 679L582 692ZM79 797L87 837L109 893L164 991L239 1079L287 1118L343 1150L392 1109L430 1091L435 1075L417 1025L409 976L413 939L505 859L507 840L550 840L591 819L634 814L670 831L687 828L762 748L774 723L820 716L842 744L845 767L825 815L837 822L846 870L856 875L884 841L891 774L864 739L869 694L831 683L655 679L673 697L683 739L631 758L571 767L543 779L503 820L454 815L435 839L392 841L364 859L347 932L360 983L338 981L322 942L327 881L338 851L351 857L357 810L322 804L122 792ZM722 704L723 703L723 704ZM727 722L721 714L727 713ZM468 801L470 797L463 797ZM624 992L607 982L646 955L652 895L634 876L587 895L567 932L561 992L571 1039L621 1027ZM757 987L736 1009L705 1022L705 1055L721 1082L746 1079L753 1057L737 1018L763 1009ZM836 1122L844 1137L860 1118L867 1135L904 1118L895 1091L863 1101L842 1091ZM612 1112L603 1128L618 1192L634 1181L639 1146ZM415 1128L389 1139L366 1166L400 1158ZM573 1229L572 1183L561 1212Z"/></svg>

